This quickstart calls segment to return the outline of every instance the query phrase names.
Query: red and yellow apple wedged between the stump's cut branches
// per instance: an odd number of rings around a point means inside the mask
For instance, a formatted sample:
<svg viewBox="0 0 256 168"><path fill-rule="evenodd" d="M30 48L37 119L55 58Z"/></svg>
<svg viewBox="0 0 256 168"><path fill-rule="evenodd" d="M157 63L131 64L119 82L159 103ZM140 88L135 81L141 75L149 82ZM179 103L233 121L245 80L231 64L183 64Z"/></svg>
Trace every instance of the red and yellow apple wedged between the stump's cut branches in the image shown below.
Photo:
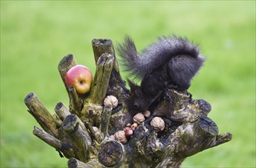
<svg viewBox="0 0 256 168"><path fill-rule="evenodd" d="M74 86L78 94L85 94L90 91L93 82L93 75L87 66L73 66L66 73L67 86Z"/></svg>

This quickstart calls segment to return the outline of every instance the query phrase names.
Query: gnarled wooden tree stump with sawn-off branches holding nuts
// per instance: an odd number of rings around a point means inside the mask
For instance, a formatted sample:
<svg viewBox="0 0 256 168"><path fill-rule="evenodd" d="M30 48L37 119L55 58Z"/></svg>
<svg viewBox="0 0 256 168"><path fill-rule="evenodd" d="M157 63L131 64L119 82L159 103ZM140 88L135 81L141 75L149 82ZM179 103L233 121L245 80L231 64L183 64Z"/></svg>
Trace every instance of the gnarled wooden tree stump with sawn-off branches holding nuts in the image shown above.
<svg viewBox="0 0 256 168"><path fill-rule="evenodd" d="M92 46L97 69L87 95L77 95L74 86L67 86L65 74L77 65L68 54L58 70L69 108L59 102L51 115L33 92L25 97L28 111L43 128L34 127L33 134L67 157L68 167L180 167L186 157L231 141L231 133L218 134L217 125L207 117L208 102L175 89L167 90L126 142L113 138L133 123L127 108L129 89L120 76L112 41L94 39ZM103 105L107 95L118 99L116 108ZM162 118L164 129L153 128L150 122L155 117Z"/></svg>

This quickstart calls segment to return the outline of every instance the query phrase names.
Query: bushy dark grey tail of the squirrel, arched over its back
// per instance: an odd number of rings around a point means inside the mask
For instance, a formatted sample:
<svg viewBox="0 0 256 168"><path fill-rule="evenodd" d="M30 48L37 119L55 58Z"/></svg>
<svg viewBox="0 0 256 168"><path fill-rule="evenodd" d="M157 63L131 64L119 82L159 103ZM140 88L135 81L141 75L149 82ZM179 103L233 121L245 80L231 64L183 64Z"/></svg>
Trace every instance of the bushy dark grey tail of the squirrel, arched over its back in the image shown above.
<svg viewBox="0 0 256 168"><path fill-rule="evenodd" d="M119 44L117 51L121 57L121 64L130 76L142 78L148 73L153 72L163 66L172 57L178 55L188 55L189 57L199 57L200 50L187 38L159 37L159 41L150 44L142 53L137 53L135 44L131 37L126 36L123 44Z"/></svg>

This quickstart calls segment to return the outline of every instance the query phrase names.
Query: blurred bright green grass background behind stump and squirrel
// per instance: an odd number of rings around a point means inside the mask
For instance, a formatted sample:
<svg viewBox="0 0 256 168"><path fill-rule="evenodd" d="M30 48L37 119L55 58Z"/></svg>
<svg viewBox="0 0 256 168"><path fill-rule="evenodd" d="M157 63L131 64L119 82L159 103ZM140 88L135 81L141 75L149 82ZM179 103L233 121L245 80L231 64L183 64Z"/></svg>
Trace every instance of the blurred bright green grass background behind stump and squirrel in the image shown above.
<svg viewBox="0 0 256 168"><path fill-rule="evenodd" d="M62 57L73 53L94 73L92 39L130 34L142 50L172 33L201 45L207 61L189 92L211 103L220 133L233 134L182 167L255 167L255 1L1 1L0 166L67 166L32 134L38 123L24 104L35 92L52 113L67 105Z"/></svg>

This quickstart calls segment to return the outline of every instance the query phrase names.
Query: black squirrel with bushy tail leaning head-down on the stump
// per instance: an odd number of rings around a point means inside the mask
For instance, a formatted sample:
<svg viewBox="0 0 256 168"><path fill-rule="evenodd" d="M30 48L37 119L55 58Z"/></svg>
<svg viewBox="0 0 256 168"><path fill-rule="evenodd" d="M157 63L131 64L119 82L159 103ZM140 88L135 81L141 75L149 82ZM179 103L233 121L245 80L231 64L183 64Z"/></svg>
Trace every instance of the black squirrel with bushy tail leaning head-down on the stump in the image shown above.
<svg viewBox="0 0 256 168"><path fill-rule="evenodd" d="M140 86L127 80L130 86L128 108L133 115L156 107L166 89L189 89L190 81L205 61L198 45L176 35L159 37L141 53L137 52L133 39L126 36L117 52L130 76L141 79Z"/></svg>

